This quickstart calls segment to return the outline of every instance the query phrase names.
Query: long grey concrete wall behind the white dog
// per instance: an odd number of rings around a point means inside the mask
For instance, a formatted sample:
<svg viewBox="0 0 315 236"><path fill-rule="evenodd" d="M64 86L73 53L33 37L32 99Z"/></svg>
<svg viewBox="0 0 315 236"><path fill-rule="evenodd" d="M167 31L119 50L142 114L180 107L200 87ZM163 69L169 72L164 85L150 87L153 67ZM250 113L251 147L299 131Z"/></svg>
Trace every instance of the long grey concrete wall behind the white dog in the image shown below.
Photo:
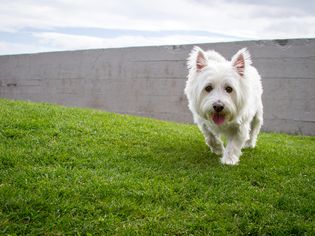
<svg viewBox="0 0 315 236"><path fill-rule="evenodd" d="M0 57L0 97L192 122L183 90L193 45ZM247 47L263 78L263 129L315 135L315 39L199 45L230 58Z"/></svg>

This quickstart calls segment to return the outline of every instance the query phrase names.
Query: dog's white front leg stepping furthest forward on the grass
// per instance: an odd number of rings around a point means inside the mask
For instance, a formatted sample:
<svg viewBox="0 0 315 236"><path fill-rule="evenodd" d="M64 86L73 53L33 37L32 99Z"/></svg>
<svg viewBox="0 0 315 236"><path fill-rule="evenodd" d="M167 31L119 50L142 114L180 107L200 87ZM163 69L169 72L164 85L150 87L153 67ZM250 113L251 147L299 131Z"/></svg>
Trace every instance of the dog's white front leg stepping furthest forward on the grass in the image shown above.
<svg viewBox="0 0 315 236"><path fill-rule="evenodd" d="M222 164L237 165L242 154L242 147L249 138L249 125L242 125L237 132L228 137L228 143L225 148Z"/></svg>

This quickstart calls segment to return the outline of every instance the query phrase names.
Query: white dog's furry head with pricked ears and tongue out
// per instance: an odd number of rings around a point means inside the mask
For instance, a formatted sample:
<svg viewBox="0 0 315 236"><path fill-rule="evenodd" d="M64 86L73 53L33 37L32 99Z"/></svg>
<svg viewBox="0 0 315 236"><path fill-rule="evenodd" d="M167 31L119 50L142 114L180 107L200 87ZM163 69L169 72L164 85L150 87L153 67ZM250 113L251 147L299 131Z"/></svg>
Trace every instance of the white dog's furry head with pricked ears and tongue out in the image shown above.
<svg viewBox="0 0 315 236"><path fill-rule="evenodd" d="M236 118L246 97L246 69L251 64L247 49L227 61L215 51L194 47L187 64L185 93L190 110L216 125Z"/></svg>

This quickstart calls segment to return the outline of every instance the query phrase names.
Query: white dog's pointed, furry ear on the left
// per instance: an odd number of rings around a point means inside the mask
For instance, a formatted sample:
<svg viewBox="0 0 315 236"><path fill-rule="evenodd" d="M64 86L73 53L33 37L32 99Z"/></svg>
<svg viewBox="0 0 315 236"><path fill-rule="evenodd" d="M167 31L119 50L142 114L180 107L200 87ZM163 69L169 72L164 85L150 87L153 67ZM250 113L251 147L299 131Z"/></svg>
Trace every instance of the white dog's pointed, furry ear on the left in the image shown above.
<svg viewBox="0 0 315 236"><path fill-rule="evenodd" d="M200 48L195 46L188 57L187 66L188 69L196 70L200 72L203 68L208 65L206 53Z"/></svg>

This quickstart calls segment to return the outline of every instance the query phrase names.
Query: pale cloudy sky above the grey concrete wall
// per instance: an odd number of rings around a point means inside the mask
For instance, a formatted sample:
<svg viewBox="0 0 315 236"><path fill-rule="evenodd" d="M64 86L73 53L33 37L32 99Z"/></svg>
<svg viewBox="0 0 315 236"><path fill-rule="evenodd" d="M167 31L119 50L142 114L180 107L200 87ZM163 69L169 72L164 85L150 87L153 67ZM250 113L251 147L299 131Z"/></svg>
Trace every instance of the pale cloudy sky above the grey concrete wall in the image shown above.
<svg viewBox="0 0 315 236"><path fill-rule="evenodd" d="M0 3L0 55L315 37L313 0Z"/></svg>

